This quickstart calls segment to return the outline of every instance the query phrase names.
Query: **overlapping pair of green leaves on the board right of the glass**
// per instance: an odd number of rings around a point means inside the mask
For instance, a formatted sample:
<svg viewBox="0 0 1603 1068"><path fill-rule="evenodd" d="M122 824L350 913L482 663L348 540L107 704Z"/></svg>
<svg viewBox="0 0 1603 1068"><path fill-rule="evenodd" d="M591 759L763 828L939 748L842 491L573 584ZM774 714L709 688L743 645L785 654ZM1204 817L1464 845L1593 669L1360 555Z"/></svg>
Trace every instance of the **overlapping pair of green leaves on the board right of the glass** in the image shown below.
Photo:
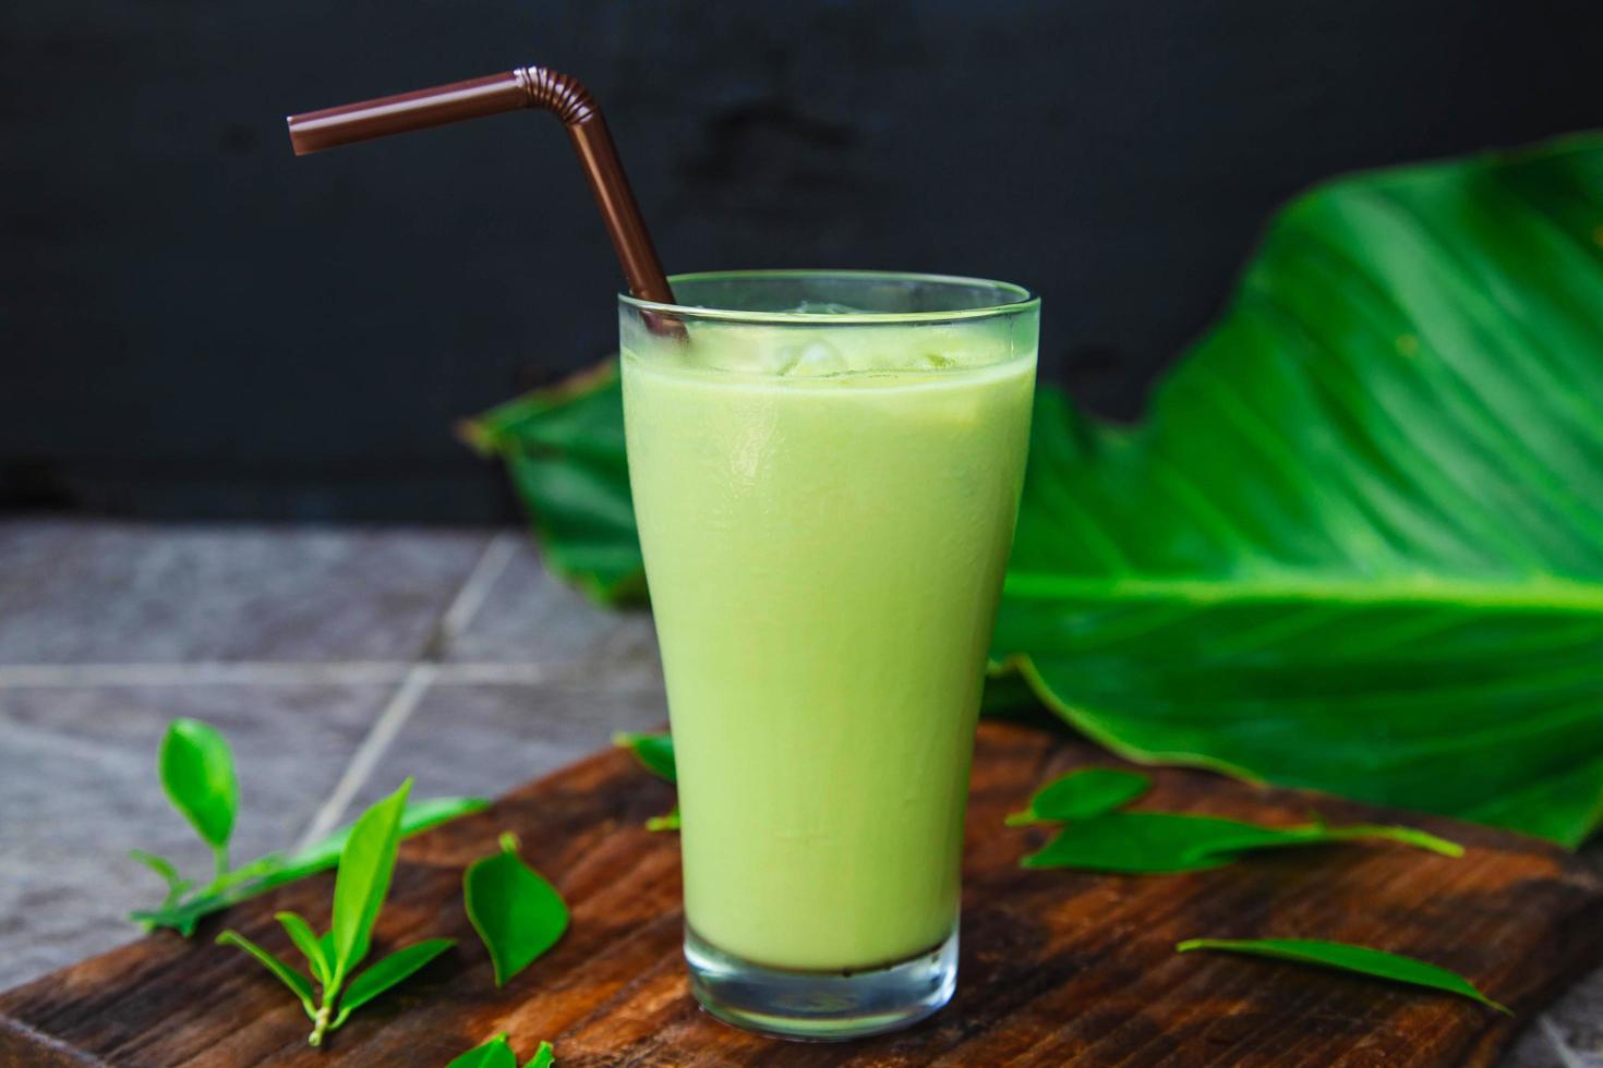
<svg viewBox="0 0 1603 1068"><path fill-rule="evenodd" d="M1406 826L1322 821L1289 828L1180 812L1119 812L1145 793L1138 772L1082 769L1040 789L1029 809L1008 823L1063 823L1045 849L1026 857L1024 868L1080 868L1111 874L1177 874L1220 868L1242 853L1289 845L1322 845L1361 839L1388 841L1443 857L1464 847Z"/></svg>

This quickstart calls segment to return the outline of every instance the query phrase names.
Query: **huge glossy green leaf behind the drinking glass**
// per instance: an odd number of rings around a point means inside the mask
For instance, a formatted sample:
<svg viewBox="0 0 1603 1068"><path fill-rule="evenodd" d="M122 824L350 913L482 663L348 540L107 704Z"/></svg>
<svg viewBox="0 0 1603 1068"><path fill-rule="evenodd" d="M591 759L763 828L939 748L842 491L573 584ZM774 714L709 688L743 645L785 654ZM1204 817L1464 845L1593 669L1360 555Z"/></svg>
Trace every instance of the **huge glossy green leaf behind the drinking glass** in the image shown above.
<svg viewBox="0 0 1603 1068"><path fill-rule="evenodd" d="M1143 424L1040 389L999 663L1129 757L1579 842L1600 245L1598 135L1295 200ZM558 570L638 589L616 376L476 426Z"/></svg>

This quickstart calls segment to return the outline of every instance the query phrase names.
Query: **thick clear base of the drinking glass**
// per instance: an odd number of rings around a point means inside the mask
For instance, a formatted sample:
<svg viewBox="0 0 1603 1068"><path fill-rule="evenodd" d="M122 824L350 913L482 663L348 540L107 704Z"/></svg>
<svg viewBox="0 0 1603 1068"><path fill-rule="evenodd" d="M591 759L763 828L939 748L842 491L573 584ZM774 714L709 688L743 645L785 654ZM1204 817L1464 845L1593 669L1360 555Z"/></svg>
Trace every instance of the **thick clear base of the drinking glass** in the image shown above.
<svg viewBox="0 0 1603 1068"><path fill-rule="evenodd" d="M923 1020L957 990L957 927L915 958L867 972L789 972L752 964L684 929L691 991L737 1028L816 1042L896 1031Z"/></svg>

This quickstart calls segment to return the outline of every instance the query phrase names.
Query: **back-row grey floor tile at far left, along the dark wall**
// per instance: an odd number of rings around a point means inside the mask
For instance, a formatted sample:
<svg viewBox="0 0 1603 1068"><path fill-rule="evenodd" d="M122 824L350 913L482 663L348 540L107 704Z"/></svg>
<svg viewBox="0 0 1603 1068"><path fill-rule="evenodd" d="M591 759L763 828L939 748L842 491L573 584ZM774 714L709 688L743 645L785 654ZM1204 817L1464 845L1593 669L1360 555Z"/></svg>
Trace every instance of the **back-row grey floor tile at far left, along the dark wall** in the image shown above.
<svg viewBox="0 0 1603 1068"><path fill-rule="evenodd" d="M0 522L0 664L409 660L487 536Z"/></svg>

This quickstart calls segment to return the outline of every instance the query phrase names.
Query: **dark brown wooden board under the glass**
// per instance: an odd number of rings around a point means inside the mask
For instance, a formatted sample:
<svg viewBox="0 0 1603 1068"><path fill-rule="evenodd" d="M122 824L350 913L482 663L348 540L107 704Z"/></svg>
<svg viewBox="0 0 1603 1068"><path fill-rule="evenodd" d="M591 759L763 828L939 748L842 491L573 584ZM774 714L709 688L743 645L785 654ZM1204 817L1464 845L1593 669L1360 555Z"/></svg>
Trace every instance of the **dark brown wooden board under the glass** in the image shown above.
<svg viewBox="0 0 1603 1068"><path fill-rule="evenodd" d="M1002 817L1071 767L1116 764L1036 727L984 724L973 773L957 998L899 1034L793 1044L696 1009L680 959L675 834L641 821L672 789L620 751L409 841L378 927L383 951L460 945L364 1007L322 1050L276 980L212 945L223 925L293 956L273 913L327 921L332 873L213 917L192 942L157 935L0 994L0 1065L420 1065L507 1031L579 1065L1484 1065L1603 951L1603 885L1568 853L1441 818L1403 817L1204 772L1156 772L1143 809L1303 821L1407 820L1468 847L1266 852L1169 877L1023 871L1047 837ZM516 831L572 906L563 942L505 990L462 911L462 869ZM1316 937L1425 958L1518 1012L1335 972L1177 954L1191 937ZM295 958L298 959L298 958Z"/></svg>

